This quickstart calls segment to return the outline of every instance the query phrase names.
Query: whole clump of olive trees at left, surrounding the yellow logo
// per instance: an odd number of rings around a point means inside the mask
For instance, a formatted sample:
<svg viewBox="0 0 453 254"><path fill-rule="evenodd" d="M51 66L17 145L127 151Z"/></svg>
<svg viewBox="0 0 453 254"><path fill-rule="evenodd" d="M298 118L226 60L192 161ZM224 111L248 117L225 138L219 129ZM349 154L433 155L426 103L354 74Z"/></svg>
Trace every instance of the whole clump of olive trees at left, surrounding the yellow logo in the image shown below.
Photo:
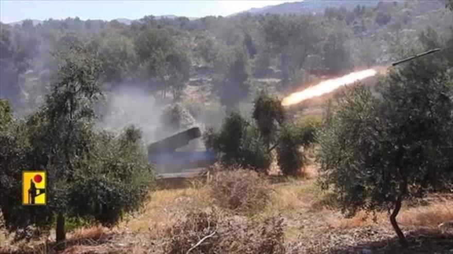
<svg viewBox="0 0 453 254"><path fill-rule="evenodd" d="M140 205L153 174L140 130L119 136L95 131L93 108L101 96L96 58L82 48L56 55L60 68L44 106L0 125L0 208L6 228L19 233L29 226L49 229L56 217L57 245L64 247L65 218L115 223ZM9 110L0 107L5 118ZM21 204L25 169L46 170L47 205Z"/></svg>

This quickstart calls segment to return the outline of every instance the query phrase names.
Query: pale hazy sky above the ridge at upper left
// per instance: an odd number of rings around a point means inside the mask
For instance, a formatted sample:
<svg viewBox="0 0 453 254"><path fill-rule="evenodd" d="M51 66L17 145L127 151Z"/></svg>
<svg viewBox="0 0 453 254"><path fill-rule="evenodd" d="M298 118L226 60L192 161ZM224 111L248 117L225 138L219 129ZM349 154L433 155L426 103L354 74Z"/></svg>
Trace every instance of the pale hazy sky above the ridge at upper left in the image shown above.
<svg viewBox="0 0 453 254"><path fill-rule="evenodd" d="M250 8L294 1L18 1L0 0L0 21L10 23L26 18L44 20L78 16L81 19L130 18L145 15L203 17L230 15Z"/></svg>

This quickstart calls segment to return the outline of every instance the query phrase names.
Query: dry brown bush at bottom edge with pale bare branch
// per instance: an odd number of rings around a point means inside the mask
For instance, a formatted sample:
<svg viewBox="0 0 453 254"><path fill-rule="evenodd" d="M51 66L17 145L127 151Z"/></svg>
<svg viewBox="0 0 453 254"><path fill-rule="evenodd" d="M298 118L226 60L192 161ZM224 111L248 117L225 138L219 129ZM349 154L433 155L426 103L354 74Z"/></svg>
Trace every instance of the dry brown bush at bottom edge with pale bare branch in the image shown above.
<svg viewBox="0 0 453 254"><path fill-rule="evenodd" d="M179 220L168 237L165 253L285 253L282 217L252 225L237 216L223 217L216 210L195 211Z"/></svg>

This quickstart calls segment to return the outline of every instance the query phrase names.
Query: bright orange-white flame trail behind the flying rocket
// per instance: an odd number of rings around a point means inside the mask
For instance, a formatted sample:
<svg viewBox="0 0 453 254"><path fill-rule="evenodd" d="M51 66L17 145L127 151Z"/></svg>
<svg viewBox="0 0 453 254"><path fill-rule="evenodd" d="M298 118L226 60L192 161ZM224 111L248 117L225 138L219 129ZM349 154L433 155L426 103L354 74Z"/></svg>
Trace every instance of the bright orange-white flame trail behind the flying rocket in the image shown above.
<svg viewBox="0 0 453 254"><path fill-rule="evenodd" d="M303 102L312 97L323 95L324 93L332 92L333 90L341 87L352 84L356 81L366 79L376 75L377 71L374 69L367 69L362 71L351 72L341 77L335 79L322 81L314 86L311 86L300 92L291 93L289 96L283 98L282 105L290 106Z"/></svg>

